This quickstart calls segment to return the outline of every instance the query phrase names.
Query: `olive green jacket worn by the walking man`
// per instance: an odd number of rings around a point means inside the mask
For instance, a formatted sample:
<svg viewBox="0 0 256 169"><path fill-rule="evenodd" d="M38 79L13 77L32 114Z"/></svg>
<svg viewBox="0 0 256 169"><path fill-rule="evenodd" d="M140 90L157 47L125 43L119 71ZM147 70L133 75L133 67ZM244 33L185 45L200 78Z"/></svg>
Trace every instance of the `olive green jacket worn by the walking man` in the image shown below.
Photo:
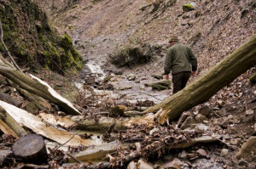
<svg viewBox="0 0 256 169"><path fill-rule="evenodd" d="M192 68L191 68L192 65ZM192 50L180 43L176 42L168 49L165 61L165 75L168 75L172 70L172 75L182 71L196 71L197 59Z"/></svg>

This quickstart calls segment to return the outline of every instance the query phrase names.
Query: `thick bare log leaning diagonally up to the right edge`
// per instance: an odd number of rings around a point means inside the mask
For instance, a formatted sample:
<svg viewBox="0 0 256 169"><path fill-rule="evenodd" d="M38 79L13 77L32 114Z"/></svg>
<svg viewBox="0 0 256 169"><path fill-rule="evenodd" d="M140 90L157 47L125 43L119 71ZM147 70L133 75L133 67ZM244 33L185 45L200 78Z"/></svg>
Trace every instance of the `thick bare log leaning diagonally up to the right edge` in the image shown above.
<svg viewBox="0 0 256 169"><path fill-rule="evenodd" d="M173 120L181 115L183 111L210 99L221 88L255 65L256 34L196 82L191 83L160 104L148 108L143 113L163 109L160 112L160 124L165 123L167 119Z"/></svg>

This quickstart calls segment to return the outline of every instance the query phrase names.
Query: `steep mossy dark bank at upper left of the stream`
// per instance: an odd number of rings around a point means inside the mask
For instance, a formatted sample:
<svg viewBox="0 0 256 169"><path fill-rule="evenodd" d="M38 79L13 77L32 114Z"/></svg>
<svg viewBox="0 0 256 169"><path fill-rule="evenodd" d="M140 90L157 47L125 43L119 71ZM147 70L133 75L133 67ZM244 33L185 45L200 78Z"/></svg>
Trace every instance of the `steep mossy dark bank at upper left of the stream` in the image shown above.
<svg viewBox="0 0 256 169"><path fill-rule="evenodd" d="M31 0L0 1L3 40L18 65L38 64L45 68L65 71L83 66L81 55L73 47L71 37L60 37L49 26L48 19L37 3ZM3 45L0 52L4 54Z"/></svg>

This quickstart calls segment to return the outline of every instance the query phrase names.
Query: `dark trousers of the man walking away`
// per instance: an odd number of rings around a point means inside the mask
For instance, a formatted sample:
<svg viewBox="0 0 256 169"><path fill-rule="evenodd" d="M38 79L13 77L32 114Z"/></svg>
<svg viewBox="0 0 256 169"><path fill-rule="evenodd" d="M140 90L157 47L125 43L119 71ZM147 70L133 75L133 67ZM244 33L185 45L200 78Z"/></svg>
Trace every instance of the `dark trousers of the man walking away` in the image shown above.
<svg viewBox="0 0 256 169"><path fill-rule="evenodd" d="M172 75L173 94L182 90L183 87L186 86L187 82L189 81L190 75L191 75L190 71L182 71Z"/></svg>

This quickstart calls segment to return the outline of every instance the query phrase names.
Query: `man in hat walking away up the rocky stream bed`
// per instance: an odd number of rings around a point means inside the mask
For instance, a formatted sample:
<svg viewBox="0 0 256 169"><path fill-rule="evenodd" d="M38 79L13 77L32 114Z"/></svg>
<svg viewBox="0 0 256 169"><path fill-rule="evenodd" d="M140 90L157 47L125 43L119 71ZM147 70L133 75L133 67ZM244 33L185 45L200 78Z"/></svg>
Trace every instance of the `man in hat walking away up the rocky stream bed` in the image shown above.
<svg viewBox="0 0 256 169"><path fill-rule="evenodd" d="M176 36L172 36L169 44L171 48L168 49L166 54L164 75L168 80L168 74L172 70L173 93L177 93L186 86L190 75L195 76L197 59L188 46L178 42Z"/></svg>

